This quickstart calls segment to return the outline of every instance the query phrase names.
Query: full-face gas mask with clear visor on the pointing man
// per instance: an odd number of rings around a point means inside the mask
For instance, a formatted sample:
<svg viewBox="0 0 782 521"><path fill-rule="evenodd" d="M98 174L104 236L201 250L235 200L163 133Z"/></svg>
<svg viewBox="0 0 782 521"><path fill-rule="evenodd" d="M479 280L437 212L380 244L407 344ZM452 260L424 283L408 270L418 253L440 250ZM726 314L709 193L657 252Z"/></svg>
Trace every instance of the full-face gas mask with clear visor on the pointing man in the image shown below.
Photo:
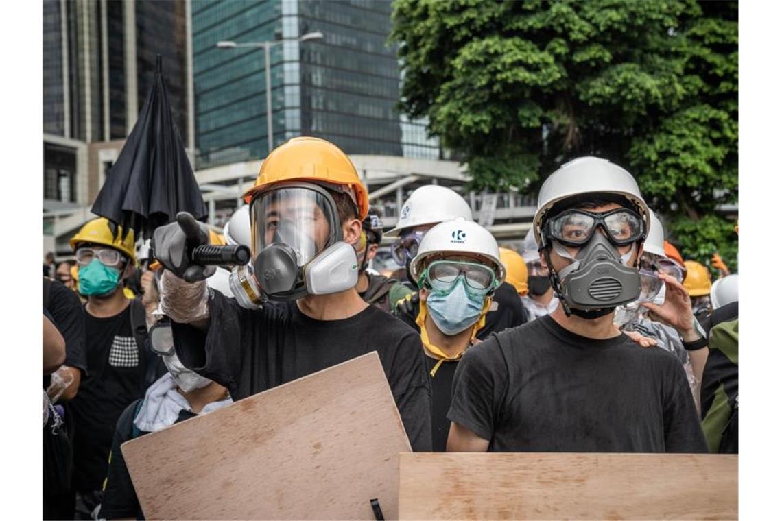
<svg viewBox="0 0 782 521"><path fill-rule="evenodd" d="M343 241L334 199L320 185L291 181L264 191L250 203L250 225L251 266L235 269L231 291L254 295L245 299L252 307L356 285L356 250Z"/></svg>

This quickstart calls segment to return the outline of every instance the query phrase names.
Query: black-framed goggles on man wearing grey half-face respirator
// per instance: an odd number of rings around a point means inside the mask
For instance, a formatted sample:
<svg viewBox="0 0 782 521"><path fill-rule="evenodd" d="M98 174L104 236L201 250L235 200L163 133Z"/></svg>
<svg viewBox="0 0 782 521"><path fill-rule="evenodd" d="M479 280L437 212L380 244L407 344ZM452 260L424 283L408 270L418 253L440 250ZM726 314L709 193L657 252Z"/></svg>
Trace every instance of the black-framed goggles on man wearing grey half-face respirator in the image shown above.
<svg viewBox="0 0 782 521"><path fill-rule="evenodd" d="M549 237L566 246L587 244L597 227L601 227L615 246L626 246L638 241L645 232L644 219L633 210L618 208L610 212L594 213L570 209L551 217L546 222Z"/></svg>

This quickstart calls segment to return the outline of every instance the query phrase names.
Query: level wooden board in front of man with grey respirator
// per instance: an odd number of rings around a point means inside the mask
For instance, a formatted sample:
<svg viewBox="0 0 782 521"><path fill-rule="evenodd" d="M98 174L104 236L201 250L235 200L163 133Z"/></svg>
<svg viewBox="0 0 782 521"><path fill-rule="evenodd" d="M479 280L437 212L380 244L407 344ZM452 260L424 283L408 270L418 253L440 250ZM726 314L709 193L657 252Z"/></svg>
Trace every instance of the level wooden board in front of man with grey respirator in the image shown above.
<svg viewBox="0 0 782 521"><path fill-rule="evenodd" d="M400 455L400 519L737 519L738 456Z"/></svg>

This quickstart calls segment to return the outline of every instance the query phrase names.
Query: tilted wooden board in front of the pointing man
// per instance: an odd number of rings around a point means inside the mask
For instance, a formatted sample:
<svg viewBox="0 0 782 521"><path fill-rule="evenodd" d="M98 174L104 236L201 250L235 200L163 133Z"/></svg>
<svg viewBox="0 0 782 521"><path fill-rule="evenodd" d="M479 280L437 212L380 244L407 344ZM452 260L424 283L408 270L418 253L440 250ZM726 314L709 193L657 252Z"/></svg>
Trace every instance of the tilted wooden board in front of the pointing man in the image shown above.
<svg viewBox="0 0 782 521"><path fill-rule="evenodd" d="M146 519L395 518L410 451L375 351L122 444Z"/></svg>

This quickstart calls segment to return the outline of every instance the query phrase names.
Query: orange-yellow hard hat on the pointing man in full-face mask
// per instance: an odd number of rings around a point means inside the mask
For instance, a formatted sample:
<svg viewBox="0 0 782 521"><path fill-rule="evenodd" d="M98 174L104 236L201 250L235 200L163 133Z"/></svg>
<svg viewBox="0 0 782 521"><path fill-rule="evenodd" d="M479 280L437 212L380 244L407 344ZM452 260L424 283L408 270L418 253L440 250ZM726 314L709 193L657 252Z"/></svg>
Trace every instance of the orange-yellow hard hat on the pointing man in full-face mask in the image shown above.
<svg viewBox="0 0 782 521"><path fill-rule="evenodd" d="M293 137L274 148L260 166L255 185L244 194L249 203L270 185L282 181L321 181L346 187L358 208L358 218L369 212L369 196L350 158L333 143L317 137Z"/></svg>

